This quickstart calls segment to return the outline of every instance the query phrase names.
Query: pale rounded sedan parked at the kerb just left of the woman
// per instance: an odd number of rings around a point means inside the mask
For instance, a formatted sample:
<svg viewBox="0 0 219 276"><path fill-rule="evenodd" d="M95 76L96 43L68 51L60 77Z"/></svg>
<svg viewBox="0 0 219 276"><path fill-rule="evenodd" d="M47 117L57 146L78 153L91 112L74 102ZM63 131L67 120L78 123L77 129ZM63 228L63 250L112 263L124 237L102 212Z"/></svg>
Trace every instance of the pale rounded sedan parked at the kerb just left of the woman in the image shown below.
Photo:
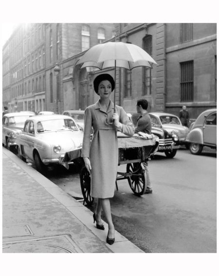
<svg viewBox="0 0 219 276"><path fill-rule="evenodd" d="M46 172L46 165L58 164L59 158L82 147L83 131L69 116L61 114L33 116L26 120L18 135L18 156L35 163L37 171Z"/></svg>

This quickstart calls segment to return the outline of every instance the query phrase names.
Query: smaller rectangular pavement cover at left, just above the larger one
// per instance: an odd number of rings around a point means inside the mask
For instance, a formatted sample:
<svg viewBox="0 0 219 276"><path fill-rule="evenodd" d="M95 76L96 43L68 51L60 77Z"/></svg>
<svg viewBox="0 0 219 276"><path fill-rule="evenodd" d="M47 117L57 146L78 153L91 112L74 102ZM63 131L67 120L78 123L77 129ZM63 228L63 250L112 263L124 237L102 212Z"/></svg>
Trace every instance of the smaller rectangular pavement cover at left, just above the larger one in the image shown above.
<svg viewBox="0 0 219 276"><path fill-rule="evenodd" d="M34 235L30 227L26 225L15 225L2 227L3 238L22 237Z"/></svg>

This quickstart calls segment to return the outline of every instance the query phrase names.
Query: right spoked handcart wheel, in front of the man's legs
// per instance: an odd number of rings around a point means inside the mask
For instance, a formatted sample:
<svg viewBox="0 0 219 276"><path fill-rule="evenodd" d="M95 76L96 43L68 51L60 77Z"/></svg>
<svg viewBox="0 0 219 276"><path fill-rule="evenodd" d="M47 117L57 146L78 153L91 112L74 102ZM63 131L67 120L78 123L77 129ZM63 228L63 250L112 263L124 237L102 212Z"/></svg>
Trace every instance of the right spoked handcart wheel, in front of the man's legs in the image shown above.
<svg viewBox="0 0 219 276"><path fill-rule="evenodd" d="M141 167L141 163L127 164L127 172L131 173L128 177L128 184L132 192L136 196L142 196L146 192L146 176L145 171Z"/></svg>

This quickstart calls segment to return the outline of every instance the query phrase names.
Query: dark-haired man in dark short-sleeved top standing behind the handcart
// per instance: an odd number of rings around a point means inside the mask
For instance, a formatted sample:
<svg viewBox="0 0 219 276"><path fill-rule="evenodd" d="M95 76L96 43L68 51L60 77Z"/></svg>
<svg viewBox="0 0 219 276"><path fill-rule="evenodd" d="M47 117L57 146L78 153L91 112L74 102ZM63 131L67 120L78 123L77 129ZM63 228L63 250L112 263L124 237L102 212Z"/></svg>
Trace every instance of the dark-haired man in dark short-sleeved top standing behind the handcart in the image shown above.
<svg viewBox="0 0 219 276"><path fill-rule="evenodd" d="M150 116L147 113L147 107L148 107L148 102L146 99L140 99L137 101L136 105L136 110L139 114L139 118L137 119L137 125L135 127L135 133L138 132L144 132L147 134L151 134L151 120ZM146 173L146 194L152 194L152 188L151 188L151 183L150 183L150 178L149 178L149 171L147 168L147 163L143 162L143 166L145 168L145 173Z"/></svg>

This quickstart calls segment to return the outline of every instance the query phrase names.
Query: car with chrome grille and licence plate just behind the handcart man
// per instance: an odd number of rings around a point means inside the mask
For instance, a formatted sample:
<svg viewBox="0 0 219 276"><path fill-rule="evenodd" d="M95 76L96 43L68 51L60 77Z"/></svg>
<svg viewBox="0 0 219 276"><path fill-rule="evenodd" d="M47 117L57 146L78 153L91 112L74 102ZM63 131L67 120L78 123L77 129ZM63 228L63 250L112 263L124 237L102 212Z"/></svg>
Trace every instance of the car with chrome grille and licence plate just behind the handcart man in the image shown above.
<svg viewBox="0 0 219 276"><path fill-rule="evenodd" d="M127 113L130 121L134 126L137 125L137 119L140 116L138 113ZM179 146L179 137L176 134L168 133L165 129L163 129L160 124L157 122L151 122L151 132L154 135L159 137L159 152L164 152L166 157L173 158Z"/></svg>

